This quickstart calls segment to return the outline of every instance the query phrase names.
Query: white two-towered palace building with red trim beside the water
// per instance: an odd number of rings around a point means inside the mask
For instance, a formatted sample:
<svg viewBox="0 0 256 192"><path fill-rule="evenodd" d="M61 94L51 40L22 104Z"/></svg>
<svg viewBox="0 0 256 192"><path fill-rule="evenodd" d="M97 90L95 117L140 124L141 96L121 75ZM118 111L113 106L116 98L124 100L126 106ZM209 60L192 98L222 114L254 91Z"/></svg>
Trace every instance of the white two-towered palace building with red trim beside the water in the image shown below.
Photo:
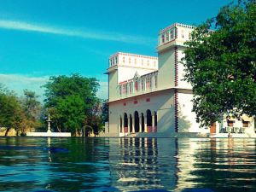
<svg viewBox="0 0 256 192"><path fill-rule="evenodd" d="M254 134L253 119L227 118L201 128L192 112L191 85L183 80L184 42L193 26L175 23L160 31L158 56L118 52L109 57L109 137L175 137ZM188 134L189 133L189 134ZM248 134L247 134L248 133Z"/></svg>

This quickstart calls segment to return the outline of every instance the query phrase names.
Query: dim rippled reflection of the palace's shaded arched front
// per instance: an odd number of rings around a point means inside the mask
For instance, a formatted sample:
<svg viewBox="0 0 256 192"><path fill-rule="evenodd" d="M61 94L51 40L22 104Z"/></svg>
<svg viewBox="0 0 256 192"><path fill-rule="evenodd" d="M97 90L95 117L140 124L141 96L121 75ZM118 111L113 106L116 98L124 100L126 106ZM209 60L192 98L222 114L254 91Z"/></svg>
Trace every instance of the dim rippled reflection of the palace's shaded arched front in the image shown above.
<svg viewBox="0 0 256 192"><path fill-rule="evenodd" d="M113 186L124 190L174 189L177 183L177 140L124 138L110 145Z"/></svg>

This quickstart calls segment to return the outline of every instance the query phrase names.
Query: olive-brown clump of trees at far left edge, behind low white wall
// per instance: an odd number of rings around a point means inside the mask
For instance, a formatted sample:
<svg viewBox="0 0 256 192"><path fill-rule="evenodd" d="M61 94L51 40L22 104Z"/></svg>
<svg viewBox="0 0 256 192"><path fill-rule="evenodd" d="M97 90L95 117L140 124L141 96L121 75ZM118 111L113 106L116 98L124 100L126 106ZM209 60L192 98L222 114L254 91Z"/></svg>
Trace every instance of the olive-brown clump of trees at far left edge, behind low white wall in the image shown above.
<svg viewBox="0 0 256 192"><path fill-rule="evenodd" d="M41 103L31 90L24 90L24 98L0 84L0 127L15 128L18 134L38 128L40 124Z"/></svg>

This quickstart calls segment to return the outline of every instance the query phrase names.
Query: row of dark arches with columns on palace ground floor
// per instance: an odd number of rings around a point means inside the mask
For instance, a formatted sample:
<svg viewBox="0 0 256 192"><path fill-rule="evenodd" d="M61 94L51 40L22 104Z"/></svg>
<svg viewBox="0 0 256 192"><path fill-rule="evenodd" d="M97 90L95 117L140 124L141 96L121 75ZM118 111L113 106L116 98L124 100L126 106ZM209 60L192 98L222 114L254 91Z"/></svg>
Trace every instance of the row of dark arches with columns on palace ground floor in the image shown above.
<svg viewBox="0 0 256 192"><path fill-rule="evenodd" d="M157 132L157 113L148 109L146 113L124 113L120 116L119 132Z"/></svg>

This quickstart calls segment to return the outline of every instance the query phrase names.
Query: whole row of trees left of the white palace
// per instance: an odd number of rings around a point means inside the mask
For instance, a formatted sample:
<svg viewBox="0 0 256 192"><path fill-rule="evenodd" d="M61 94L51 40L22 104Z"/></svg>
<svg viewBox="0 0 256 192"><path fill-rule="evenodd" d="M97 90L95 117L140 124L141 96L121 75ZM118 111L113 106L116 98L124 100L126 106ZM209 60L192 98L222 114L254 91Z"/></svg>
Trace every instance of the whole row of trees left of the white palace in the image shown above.
<svg viewBox="0 0 256 192"><path fill-rule="evenodd" d="M98 134L108 121L108 101L96 97L98 88L96 79L79 74L52 76L44 84L46 99L41 103L33 90L17 96L0 84L0 127L14 128L18 136L46 131L49 113L52 131L70 131L73 136Z"/></svg>

